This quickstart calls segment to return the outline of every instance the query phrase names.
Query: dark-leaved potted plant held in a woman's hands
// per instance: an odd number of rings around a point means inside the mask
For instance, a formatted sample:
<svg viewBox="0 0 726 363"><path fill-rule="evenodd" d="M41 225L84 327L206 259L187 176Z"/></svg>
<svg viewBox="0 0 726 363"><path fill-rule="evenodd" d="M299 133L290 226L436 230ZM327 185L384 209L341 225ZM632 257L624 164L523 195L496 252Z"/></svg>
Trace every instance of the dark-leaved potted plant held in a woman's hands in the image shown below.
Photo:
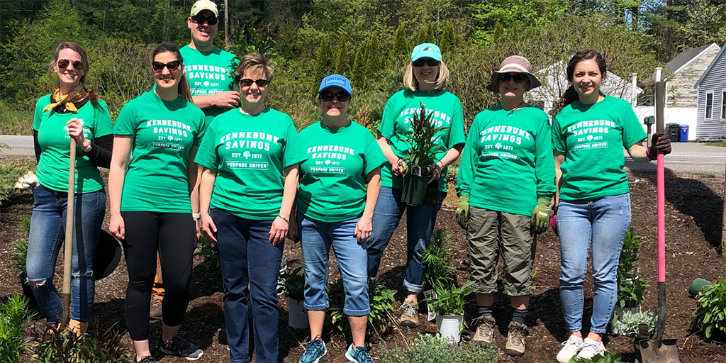
<svg viewBox="0 0 726 363"><path fill-rule="evenodd" d="M433 113L427 113L421 102L421 109L413 115L410 121L410 131L407 133L409 149L403 158L404 180L401 189L401 201L409 205L421 205L426 195L436 195L436 183L428 183L431 179L431 170L428 166L436 162L436 133L446 129L436 127L432 123ZM431 191L427 190L431 189Z"/></svg>

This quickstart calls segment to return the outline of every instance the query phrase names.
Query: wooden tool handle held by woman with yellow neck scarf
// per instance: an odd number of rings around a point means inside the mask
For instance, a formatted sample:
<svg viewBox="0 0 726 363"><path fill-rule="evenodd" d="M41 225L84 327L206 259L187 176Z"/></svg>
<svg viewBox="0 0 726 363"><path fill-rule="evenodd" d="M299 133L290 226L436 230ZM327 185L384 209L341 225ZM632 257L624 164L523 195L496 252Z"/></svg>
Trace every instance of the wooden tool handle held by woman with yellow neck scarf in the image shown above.
<svg viewBox="0 0 726 363"><path fill-rule="evenodd" d="M65 211L65 242L63 243L63 319L61 327L70 322L70 267L73 264L73 206L76 204L76 139L70 138L70 165L68 171L68 206Z"/></svg>

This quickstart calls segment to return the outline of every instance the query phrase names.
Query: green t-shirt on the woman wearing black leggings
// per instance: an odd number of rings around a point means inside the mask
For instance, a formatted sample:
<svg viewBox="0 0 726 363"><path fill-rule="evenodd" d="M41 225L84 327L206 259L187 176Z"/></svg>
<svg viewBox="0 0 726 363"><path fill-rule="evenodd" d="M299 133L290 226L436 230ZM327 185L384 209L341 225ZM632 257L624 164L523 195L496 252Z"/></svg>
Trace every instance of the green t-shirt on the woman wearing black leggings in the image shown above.
<svg viewBox="0 0 726 363"><path fill-rule="evenodd" d="M204 130L202 110L181 97L168 102L147 91L126 103L114 125L134 140L121 211L191 213L189 152Z"/></svg>

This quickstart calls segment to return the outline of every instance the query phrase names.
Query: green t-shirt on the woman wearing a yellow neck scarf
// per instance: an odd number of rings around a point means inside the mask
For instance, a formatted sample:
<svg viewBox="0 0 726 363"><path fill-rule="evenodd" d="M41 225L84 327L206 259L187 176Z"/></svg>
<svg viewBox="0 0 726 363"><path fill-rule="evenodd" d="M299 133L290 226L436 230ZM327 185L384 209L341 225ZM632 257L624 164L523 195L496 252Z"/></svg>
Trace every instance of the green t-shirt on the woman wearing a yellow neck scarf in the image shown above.
<svg viewBox="0 0 726 363"><path fill-rule="evenodd" d="M100 136L113 134L111 116L106 102L86 102L75 113L57 113L55 110L43 112L50 105L51 95L46 94L36 102L33 130L38 131L38 144L41 145L41 159L38 162L38 182L57 192L68 192L68 172L70 171L70 136L68 121L71 118L83 120L83 136L95 141ZM98 168L76 146L76 193L96 192L103 189L103 179Z"/></svg>

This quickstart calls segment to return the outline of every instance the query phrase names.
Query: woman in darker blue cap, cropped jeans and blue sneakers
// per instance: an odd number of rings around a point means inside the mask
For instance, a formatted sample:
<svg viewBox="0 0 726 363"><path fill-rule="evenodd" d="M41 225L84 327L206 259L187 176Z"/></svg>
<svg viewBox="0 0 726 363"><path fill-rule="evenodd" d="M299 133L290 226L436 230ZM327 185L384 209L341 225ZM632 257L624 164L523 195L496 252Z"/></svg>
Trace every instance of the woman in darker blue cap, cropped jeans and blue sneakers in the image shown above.
<svg viewBox="0 0 726 363"><path fill-rule="evenodd" d="M351 325L353 343L346 351L351 362L372 363L365 348L370 313L366 250L380 189L380 167L386 162L378 143L364 126L348 119L352 97L348 78L323 78L318 91L322 120L300 132L296 159L300 164L297 228L301 233L305 301L311 340L300 363L316 363L327 353L320 338L328 307L325 287L333 246L343 279L343 313ZM292 231L290 237L295 237Z"/></svg>

